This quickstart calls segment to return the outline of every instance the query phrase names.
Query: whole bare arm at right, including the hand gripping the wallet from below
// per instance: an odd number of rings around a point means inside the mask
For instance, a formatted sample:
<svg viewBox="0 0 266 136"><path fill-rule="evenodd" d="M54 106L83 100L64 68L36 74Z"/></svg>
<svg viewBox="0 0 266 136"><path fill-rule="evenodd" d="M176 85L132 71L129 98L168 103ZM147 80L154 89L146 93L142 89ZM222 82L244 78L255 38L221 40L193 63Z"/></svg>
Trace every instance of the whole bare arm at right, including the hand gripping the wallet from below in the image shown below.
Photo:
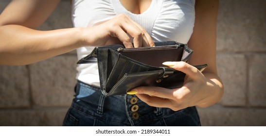
<svg viewBox="0 0 266 136"><path fill-rule="evenodd" d="M218 0L196 0L195 27L188 43L194 50L191 65L185 62L164 63L186 73L182 87L137 87L132 92L151 106L168 107L175 111L190 106L208 107L218 102L223 95L223 84L216 70L217 11ZM208 64L203 73L192 66L200 64Z"/></svg>

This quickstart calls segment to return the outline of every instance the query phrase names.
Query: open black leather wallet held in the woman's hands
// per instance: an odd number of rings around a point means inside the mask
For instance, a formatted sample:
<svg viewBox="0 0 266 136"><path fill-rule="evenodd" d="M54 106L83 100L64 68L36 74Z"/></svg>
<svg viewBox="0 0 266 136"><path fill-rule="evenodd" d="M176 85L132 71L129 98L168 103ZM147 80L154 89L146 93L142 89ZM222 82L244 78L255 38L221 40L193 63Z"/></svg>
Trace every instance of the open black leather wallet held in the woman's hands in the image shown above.
<svg viewBox="0 0 266 136"><path fill-rule="evenodd" d="M77 64L98 63L100 87L105 96L121 95L138 86L181 87L185 73L162 65L188 62L193 51L176 41L156 42L155 47L125 48L116 44L95 47ZM207 64L194 66L202 71Z"/></svg>

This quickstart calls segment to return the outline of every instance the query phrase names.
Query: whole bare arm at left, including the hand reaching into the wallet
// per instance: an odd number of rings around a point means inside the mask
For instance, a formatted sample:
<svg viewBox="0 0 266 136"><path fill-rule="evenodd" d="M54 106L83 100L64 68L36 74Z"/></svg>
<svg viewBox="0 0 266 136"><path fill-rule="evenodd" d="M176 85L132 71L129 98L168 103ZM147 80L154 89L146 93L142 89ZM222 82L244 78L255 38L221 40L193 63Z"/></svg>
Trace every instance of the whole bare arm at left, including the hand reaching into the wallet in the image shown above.
<svg viewBox="0 0 266 136"><path fill-rule="evenodd" d="M103 46L117 37L126 47L152 45L145 30L120 15L91 28L35 30L53 12L60 0L13 0L0 15L0 65L26 65L81 46ZM143 42L142 42L143 41Z"/></svg>

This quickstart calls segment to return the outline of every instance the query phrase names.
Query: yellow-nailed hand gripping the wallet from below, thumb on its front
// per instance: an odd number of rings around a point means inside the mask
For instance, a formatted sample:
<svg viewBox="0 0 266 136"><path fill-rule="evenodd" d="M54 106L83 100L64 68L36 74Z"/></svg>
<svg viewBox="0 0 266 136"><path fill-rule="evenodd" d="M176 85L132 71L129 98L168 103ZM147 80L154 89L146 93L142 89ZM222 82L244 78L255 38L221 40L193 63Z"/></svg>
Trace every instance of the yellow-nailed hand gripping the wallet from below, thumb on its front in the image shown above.
<svg viewBox="0 0 266 136"><path fill-rule="evenodd" d="M212 96L212 87L216 86L207 79L197 68L185 62L166 62L164 65L182 71L186 74L184 84L180 88L167 89L156 86L136 87L136 93L143 102L154 107L167 107L174 111L186 107L201 105Z"/></svg>

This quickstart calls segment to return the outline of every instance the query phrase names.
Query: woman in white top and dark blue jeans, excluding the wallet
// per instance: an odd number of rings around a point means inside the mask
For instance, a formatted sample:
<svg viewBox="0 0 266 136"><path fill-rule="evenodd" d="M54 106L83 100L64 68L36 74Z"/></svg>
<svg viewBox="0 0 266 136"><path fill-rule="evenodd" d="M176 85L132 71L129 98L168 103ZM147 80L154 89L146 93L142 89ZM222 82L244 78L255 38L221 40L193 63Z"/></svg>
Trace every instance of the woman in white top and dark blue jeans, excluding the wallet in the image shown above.
<svg viewBox="0 0 266 136"><path fill-rule="evenodd" d="M0 64L27 65L95 46L153 46L176 40L194 50L190 64L164 65L186 73L180 88L137 87L105 97L97 64L77 66L76 97L63 125L200 125L195 106L208 107L223 95L216 71L218 0L73 0L74 28L38 31L60 0L13 0L0 15ZM60 40L58 40L60 39ZM208 64L203 73L192 65Z"/></svg>

